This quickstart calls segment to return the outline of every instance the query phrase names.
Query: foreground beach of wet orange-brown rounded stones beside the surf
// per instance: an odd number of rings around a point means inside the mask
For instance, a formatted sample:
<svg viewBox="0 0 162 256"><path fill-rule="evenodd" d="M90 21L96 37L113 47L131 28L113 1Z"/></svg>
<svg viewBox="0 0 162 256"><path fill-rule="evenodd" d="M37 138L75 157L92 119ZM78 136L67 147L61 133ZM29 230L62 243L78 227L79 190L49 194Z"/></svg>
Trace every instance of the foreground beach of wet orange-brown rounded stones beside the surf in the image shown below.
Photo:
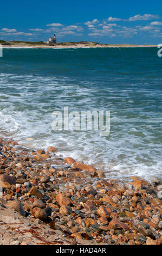
<svg viewBox="0 0 162 256"><path fill-rule="evenodd" d="M10 230L2 245L162 243L159 180L106 179L102 170L56 151L0 138L0 235Z"/></svg>

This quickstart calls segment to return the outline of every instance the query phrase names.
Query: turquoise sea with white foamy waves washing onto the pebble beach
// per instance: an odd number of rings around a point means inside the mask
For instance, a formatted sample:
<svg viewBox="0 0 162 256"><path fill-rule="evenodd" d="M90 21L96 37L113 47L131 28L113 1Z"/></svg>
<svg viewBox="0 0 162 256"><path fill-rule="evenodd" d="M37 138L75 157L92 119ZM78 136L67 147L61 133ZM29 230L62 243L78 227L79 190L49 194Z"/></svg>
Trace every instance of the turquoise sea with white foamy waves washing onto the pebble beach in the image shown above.
<svg viewBox="0 0 162 256"><path fill-rule="evenodd" d="M27 147L54 145L108 178L160 177L161 71L155 47L3 49L0 132ZM64 106L110 111L110 135L53 131L51 113Z"/></svg>

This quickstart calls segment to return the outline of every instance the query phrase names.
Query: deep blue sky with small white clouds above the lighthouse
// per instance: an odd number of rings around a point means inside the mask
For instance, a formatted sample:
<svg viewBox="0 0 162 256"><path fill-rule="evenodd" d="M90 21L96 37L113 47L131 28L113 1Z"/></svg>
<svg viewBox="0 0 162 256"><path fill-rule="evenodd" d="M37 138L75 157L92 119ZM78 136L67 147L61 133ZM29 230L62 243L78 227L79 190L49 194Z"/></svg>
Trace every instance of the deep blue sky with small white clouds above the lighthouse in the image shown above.
<svg viewBox="0 0 162 256"><path fill-rule="evenodd" d="M162 43L162 1L1 1L0 39Z"/></svg>

